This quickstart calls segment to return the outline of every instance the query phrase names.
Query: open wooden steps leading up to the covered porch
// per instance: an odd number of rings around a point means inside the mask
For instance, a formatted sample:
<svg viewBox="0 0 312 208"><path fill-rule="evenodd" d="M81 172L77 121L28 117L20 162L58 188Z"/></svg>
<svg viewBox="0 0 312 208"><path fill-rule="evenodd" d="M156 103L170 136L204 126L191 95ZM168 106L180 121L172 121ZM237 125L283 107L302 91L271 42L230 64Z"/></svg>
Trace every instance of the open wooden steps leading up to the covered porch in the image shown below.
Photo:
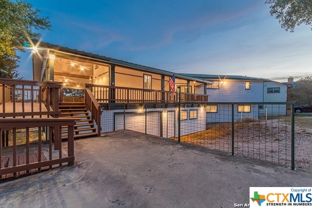
<svg viewBox="0 0 312 208"><path fill-rule="evenodd" d="M74 138L97 136L95 124L84 103L61 103L59 118L75 118ZM62 126L62 140L67 139L67 126Z"/></svg>

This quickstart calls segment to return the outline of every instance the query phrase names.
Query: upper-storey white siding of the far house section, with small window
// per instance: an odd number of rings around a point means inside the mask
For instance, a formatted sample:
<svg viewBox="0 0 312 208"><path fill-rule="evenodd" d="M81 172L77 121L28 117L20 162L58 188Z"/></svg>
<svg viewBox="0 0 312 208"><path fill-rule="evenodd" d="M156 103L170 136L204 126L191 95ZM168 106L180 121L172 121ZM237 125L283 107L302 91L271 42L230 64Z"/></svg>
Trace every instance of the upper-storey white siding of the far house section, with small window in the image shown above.
<svg viewBox="0 0 312 208"><path fill-rule="evenodd" d="M263 81L236 79L224 81L223 84L220 82L219 89L207 88L209 102L262 102ZM250 90L245 90L245 81L251 82Z"/></svg>

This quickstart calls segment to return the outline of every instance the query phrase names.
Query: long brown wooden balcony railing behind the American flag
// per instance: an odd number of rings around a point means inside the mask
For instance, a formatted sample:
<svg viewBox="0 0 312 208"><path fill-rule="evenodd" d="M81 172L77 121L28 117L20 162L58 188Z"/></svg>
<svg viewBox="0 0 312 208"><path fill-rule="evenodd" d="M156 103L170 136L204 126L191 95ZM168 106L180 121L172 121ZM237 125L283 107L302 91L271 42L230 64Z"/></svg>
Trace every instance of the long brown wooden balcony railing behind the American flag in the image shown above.
<svg viewBox="0 0 312 208"><path fill-rule="evenodd" d="M178 102L178 93L86 84L100 103ZM181 93L181 102L207 102L208 95Z"/></svg>

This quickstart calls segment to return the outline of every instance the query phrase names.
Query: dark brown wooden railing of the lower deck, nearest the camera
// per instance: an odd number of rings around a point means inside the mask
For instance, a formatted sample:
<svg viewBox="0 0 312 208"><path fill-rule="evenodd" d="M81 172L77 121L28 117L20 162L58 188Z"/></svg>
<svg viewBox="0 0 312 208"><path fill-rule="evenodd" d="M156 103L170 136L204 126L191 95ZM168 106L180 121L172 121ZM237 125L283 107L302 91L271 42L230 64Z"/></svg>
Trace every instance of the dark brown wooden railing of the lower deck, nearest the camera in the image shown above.
<svg viewBox="0 0 312 208"><path fill-rule="evenodd" d="M52 166L67 163L68 166L74 165L74 119L59 119L59 118L3 118L0 119L0 131L12 131L13 146L2 148L0 142L0 179L3 175L7 177L17 177L21 174L33 173L41 171L43 167L52 169ZM57 140L59 146L58 154L52 151L52 128L59 129L61 126L68 126L68 140L67 140L67 155L63 155L62 145L60 139ZM49 147L48 152L46 148L41 147L41 128L48 127L49 134ZM29 129L38 128L38 147L37 151L32 151L30 148ZM17 130L22 129L26 134L25 153L19 152L17 148ZM59 131L60 132L60 131ZM0 140L4 138L0 134ZM6 152L3 152L6 151ZM5 157L2 156L5 153ZM52 154L53 153L53 154ZM36 156L35 156L36 155ZM35 158L35 159L34 159ZM2 162L3 161L3 162Z"/></svg>

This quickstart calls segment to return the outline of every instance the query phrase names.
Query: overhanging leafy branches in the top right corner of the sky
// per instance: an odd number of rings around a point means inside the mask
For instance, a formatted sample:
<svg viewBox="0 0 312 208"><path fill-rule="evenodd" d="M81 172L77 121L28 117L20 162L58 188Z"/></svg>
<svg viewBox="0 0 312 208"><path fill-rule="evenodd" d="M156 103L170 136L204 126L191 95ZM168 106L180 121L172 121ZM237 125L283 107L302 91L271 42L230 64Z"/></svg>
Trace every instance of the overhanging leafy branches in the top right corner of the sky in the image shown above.
<svg viewBox="0 0 312 208"><path fill-rule="evenodd" d="M286 31L293 32L294 27L301 24L312 25L312 0L267 0L265 3L271 4L270 14Z"/></svg>

